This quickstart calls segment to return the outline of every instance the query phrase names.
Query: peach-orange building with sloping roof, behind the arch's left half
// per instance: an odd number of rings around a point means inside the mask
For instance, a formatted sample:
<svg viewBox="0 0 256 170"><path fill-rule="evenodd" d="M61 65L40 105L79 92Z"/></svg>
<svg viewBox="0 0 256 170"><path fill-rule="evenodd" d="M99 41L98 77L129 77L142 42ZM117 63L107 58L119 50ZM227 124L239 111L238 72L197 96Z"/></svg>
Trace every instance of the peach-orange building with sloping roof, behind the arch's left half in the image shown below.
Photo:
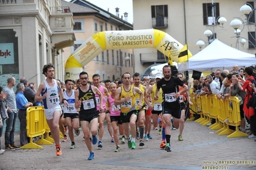
<svg viewBox="0 0 256 170"><path fill-rule="evenodd" d="M65 61L74 50L78 49L90 36L96 33L133 29L132 24L127 22L127 18L119 16L118 9L116 15L113 15L88 1L62 2L69 6L71 12L73 12L74 33L76 35L74 46L64 49ZM101 80L109 79L110 81L121 78L124 72L133 73L133 69L133 49L104 50L89 64L83 66L83 70L89 73L90 79L92 75L98 73ZM77 78L79 78L78 75Z"/></svg>

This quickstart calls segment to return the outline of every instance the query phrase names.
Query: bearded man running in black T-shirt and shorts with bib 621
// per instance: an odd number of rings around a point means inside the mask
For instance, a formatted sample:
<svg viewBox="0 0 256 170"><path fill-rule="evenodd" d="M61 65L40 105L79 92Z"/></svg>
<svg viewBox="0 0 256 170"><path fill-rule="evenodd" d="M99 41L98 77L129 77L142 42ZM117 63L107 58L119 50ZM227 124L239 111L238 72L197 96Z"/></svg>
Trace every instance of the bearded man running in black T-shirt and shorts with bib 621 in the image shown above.
<svg viewBox="0 0 256 170"><path fill-rule="evenodd" d="M187 85L185 85L178 77L171 76L171 66L166 65L163 67L164 78L157 82L157 90L155 100L158 99L159 89L163 91L163 117L166 121L166 151L171 151L170 139L171 139L171 116L173 116L174 127L178 129L180 126L180 93L187 91ZM178 86L182 86L183 89L178 91Z"/></svg>

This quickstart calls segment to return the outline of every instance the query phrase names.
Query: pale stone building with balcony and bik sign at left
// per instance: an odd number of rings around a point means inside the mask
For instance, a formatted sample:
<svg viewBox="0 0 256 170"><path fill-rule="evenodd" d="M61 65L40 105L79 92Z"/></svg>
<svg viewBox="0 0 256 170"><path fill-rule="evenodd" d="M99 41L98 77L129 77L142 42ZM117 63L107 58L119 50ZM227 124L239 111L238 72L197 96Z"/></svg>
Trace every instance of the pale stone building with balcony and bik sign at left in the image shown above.
<svg viewBox="0 0 256 170"><path fill-rule="evenodd" d="M47 63L63 79L62 49L74 44L73 23L73 14L60 0L1 0L0 86L10 76L38 85Z"/></svg>

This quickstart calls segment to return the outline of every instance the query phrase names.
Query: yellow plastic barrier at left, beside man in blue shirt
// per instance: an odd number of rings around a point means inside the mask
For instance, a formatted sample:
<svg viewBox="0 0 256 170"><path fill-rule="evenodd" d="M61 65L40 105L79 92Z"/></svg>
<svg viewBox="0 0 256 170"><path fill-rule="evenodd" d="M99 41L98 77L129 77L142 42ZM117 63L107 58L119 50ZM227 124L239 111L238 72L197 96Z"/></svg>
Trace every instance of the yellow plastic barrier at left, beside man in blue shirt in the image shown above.
<svg viewBox="0 0 256 170"><path fill-rule="evenodd" d="M33 137L41 136L40 142L47 144L48 141L44 140L44 107L28 107L27 109L27 136L30 137L30 143L21 146L21 149L42 149L42 146L39 146L36 143L33 143Z"/></svg>

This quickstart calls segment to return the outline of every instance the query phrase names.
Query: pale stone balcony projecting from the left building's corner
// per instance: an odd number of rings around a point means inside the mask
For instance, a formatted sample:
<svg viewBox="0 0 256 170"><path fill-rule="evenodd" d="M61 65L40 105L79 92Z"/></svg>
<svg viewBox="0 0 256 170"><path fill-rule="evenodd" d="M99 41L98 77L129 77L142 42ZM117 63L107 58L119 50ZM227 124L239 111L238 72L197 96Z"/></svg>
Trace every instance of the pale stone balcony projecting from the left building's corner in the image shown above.
<svg viewBox="0 0 256 170"><path fill-rule="evenodd" d="M51 36L52 45L57 50L74 45L73 13L69 6L50 7L51 15L49 26L53 35Z"/></svg>

